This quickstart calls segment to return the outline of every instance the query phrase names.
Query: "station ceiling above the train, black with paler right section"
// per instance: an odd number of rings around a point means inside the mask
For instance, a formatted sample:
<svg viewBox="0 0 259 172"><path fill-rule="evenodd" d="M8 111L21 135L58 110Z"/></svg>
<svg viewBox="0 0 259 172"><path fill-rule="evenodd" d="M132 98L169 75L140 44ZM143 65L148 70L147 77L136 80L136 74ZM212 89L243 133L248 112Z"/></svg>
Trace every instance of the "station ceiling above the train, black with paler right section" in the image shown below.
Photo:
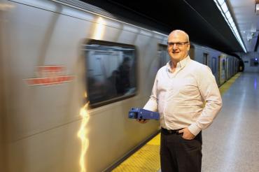
<svg viewBox="0 0 259 172"><path fill-rule="evenodd" d="M182 29L190 41L227 53L243 52L213 0L81 0L102 8L120 20L169 34ZM227 0L248 51L257 49L258 15L254 0ZM247 36L254 30L251 41ZM250 37L249 37L250 38Z"/></svg>

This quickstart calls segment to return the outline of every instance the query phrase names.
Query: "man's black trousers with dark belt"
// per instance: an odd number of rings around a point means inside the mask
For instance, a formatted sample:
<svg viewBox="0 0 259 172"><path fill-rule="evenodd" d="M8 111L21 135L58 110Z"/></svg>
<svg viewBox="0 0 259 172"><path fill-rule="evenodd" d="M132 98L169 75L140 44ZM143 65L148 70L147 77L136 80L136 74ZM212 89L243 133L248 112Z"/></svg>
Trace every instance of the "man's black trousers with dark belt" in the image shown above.
<svg viewBox="0 0 259 172"><path fill-rule="evenodd" d="M202 170L202 132L193 140L175 131L161 130L160 163L162 172L200 172Z"/></svg>

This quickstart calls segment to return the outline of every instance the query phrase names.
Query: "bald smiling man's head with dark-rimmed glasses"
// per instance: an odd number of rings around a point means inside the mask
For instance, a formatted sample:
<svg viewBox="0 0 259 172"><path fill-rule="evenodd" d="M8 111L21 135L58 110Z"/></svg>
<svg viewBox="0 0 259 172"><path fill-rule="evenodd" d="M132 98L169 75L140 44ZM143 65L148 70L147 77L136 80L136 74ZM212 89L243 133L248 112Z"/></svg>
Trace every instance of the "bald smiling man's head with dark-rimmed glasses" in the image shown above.
<svg viewBox="0 0 259 172"><path fill-rule="evenodd" d="M167 51L173 62L180 62L188 56L189 36L185 31L174 30L168 36Z"/></svg>

